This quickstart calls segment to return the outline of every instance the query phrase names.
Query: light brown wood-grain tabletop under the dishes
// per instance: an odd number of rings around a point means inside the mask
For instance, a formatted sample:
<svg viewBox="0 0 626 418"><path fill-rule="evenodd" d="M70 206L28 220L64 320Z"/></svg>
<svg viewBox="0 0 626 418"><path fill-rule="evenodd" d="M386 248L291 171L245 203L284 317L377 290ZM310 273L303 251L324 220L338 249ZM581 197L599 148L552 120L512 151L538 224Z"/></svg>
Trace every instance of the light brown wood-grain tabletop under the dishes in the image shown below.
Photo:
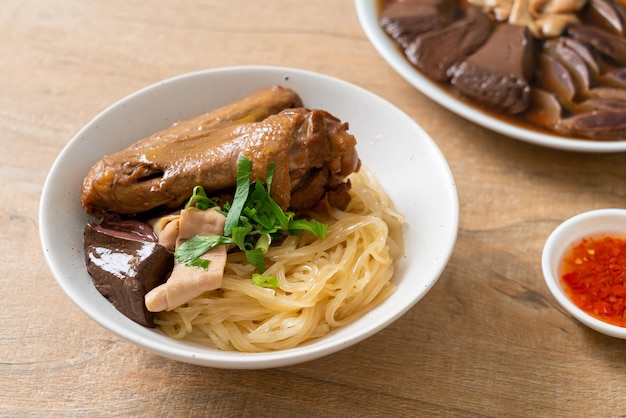
<svg viewBox="0 0 626 418"><path fill-rule="evenodd" d="M409 114L456 177L460 230L432 291L382 332L229 371L151 354L76 308L44 262L38 203L57 154L109 104L248 64L339 77ZM2 0L0 145L2 416L626 414L626 343L557 306L540 268L561 221L626 204L626 155L542 148L450 113L383 61L350 0Z"/></svg>

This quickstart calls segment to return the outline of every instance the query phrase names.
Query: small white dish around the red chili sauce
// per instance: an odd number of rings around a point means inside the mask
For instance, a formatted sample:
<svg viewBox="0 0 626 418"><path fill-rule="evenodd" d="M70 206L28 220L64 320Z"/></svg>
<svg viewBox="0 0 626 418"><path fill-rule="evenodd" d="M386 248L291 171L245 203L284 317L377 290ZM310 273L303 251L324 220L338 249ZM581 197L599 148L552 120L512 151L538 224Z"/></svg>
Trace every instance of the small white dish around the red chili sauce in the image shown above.
<svg viewBox="0 0 626 418"><path fill-rule="evenodd" d="M546 240L541 267L546 284L557 302L574 318L606 335L626 339L626 328L603 322L576 306L561 284L560 262L566 252L586 237L626 237L626 210L597 209L576 215L559 225Z"/></svg>

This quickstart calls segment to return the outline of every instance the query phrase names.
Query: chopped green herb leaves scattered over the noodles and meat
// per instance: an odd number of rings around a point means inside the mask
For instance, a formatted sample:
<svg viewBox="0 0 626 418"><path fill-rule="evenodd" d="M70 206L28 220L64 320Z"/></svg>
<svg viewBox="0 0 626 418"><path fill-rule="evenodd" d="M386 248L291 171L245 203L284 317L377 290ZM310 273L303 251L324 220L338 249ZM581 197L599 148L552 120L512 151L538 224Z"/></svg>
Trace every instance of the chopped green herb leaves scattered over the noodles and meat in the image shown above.
<svg viewBox="0 0 626 418"><path fill-rule="evenodd" d="M260 273L265 271L265 253L273 240L279 240L283 234L298 234L309 231L319 238L326 238L327 225L313 219L294 219L293 212L285 212L270 196L274 164L270 165L265 184L256 180L250 182L252 162L244 156L237 161L237 185L232 203L225 204L222 211L226 215L224 236L196 235L177 249L174 255L180 263L206 268L200 256L218 245L235 244L244 252L246 259ZM194 188L193 196L185 206L208 209L216 201L204 193L201 186ZM210 205L210 206L207 206ZM206 206L206 207L205 207ZM206 265L206 266L205 266ZM255 284L263 287L278 287L278 281L271 276L255 273ZM273 279L273 280L270 280Z"/></svg>

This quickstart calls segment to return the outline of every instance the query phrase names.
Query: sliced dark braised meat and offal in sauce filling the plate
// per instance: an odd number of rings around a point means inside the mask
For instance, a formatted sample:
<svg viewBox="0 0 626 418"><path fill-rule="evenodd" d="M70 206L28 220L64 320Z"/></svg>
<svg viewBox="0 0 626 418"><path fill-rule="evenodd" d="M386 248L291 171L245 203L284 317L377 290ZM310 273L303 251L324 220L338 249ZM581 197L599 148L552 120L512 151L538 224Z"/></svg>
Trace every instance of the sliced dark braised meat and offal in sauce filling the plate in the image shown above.
<svg viewBox="0 0 626 418"><path fill-rule="evenodd" d="M491 116L564 137L625 139L626 5L530 1L561 14L514 9L502 21L487 6L497 3L385 0L379 23L442 91Z"/></svg>

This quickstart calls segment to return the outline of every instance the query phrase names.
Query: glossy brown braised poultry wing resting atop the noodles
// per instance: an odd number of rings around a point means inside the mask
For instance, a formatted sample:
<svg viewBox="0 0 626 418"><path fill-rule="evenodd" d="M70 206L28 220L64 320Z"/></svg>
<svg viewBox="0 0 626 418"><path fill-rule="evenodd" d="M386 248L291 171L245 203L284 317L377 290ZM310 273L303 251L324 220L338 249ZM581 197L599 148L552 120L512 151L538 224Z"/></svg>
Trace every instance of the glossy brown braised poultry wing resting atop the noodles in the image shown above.
<svg viewBox="0 0 626 418"><path fill-rule="evenodd" d="M83 182L83 207L94 216L171 211L197 185L215 194L234 189L245 156L253 181L264 181L274 164L271 195L283 209L303 212L324 197L345 209L346 177L360 165L356 140L347 123L300 106L286 88L254 93L107 155Z"/></svg>

